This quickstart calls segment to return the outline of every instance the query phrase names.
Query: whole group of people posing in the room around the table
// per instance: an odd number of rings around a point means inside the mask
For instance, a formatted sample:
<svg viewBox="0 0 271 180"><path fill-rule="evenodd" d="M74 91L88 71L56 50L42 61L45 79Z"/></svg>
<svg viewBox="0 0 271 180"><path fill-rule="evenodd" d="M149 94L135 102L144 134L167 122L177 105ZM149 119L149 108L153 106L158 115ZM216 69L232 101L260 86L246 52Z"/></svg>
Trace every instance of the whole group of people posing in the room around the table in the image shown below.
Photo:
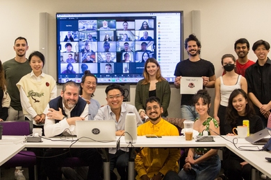
<svg viewBox="0 0 271 180"><path fill-rule="evenodd" d="M232 128L243 125L243 120L249 120L250 133L263 129L271 109L268 42L259 40L254 43L252 50L258 57L254 63L247 59L249 42L244 38L238 39L234 45L238 60L233 55L223 55L224 73L217 79L213 64L199 57L201 47L197 37L189 35L185 40L189 58L176 65L176 88L180 88L182 77L202 77L204 86L195 95L182 95L181 118L194 120L194 129L199 135L206 131L210 135L232 136ZM0 62L0 120L33 120L34 127L43 128L42 132L47 137L76 135L76 120L115 120L115 134L122 136L125 116L133 112L139 136L179 135L178 129L164 119L168 116L171 90L169 82L161 75L160 64L154 58L144 57L144 78L136 86L135 106L123 102L124 91L120 85L110 84L105 90L107 105L101 107L92 98L97 78L90 71L84 71L80 87L75 82L66 82L60 96L57 96L56 81L42 71L44 55L34 51L26 59L28 44L24 37L15 39L14 49L15 58L3 65ZM205 87L215 87L214 117L209 114L211 96ZM144 123L147 119L149 121ZM44 156L50 157L42 160L42 168L49 179L60 179L62 174L68 179L101 178L102 159L96 149L71 149L65 153L67 151L51 148L44 152ZM128 179L127 151L126 148L109 150L110 179L117 179L114 168L117 168L121 179ZM88 168L83 170L85 173L60 167L69 155L85 159L88 163ZM217 149L190 148L185 165L179 172L180 156L179 148L143 148L136 154L136 179L215 179L220 172ZM229 179L250 178L252 167L249 163L229 151L224 152L224 156L227 158L222 168ZM15 179L18 176L24 177L19 167L15 170Z"/></svg>

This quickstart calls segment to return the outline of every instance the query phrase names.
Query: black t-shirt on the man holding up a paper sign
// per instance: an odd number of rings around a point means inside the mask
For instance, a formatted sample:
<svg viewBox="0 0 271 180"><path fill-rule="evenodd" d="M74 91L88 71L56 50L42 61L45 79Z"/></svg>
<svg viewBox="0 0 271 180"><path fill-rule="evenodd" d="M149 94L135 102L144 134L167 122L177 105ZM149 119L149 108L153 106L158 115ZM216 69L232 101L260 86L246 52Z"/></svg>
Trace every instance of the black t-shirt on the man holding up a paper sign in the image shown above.
<svg viewBox="0 0 271 180"><path fill-rule="evenodd" d="M176 65L175 76L182 77L211 77L215 75L215 66L211 62L200 59L197 62L191 62L189 59L183 60ZM204 89L205 87L203 87ZM192 94L183 94L181 96L181 105L193 105Z"/></svg>

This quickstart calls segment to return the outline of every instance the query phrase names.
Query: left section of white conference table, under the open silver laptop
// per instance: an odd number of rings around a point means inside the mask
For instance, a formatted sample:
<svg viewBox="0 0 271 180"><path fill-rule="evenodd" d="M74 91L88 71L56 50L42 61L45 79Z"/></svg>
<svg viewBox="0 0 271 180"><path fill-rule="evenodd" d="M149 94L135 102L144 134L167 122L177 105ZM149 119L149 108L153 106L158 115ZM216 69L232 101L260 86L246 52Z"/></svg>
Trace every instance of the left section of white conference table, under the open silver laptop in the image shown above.
<svg viewBox="0 0 271 180"><path fill-rule="evenodd" d="M105 161L104 161L104 179L110 180L110 163L109 163L108 148L116 147L117 146L116 141L108 141L108 142L95 142L95 141L79 142L79 141L77 141L76 143L74 143L74 141L76 140L76 137L75 138L73 137L73 139L72 139L72 137L68 137L66 140L54 137L54 138L51 138L53 141L51 141L49 139L42 138L42 142L40 142L40 143L23 143L24 136L3 136L3 139L6 139L7 141L5 141L5 142L0 141L0 147L2 147L3 145L8 145L7 147L10 146L11 149L10 149L10 152L8 153L8 150L2 150L2 148L1 148L1 150L0 150L1 164L8 161L8 159L13 157L20 150L24 149L24 147L100 148L103 150L104 155L106 156ZM117 137L116 137L116 139L117 139ZM72 140L74 140L74 141L72 141ZM19 143L19 144L15 144L15 143ZM14 148L14 150L12 148ZM5 156L3 156L3 154L5 154Z"/></svg>

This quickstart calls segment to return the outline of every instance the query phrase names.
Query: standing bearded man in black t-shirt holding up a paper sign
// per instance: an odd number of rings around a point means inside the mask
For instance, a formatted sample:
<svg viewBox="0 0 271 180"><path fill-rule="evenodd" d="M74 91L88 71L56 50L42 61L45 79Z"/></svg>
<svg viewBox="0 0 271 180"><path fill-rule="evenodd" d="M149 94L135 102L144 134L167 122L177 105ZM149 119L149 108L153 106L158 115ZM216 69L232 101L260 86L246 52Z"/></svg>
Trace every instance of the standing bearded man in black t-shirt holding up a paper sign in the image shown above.
<svg viewBox="0 0 271 180"><path fill-rule="evenodd" d="M211 62L199 57L202 48L199 39L195 35L189 35L184 43L189 58L176 65L174 75L176 76L174 86L179 89L181 77L202 77L203 89L205 87L215 87L215 67ZM199 118L195 105L193 105L193 94L183 94L181 96L181 118L195 120Z"/></svg>

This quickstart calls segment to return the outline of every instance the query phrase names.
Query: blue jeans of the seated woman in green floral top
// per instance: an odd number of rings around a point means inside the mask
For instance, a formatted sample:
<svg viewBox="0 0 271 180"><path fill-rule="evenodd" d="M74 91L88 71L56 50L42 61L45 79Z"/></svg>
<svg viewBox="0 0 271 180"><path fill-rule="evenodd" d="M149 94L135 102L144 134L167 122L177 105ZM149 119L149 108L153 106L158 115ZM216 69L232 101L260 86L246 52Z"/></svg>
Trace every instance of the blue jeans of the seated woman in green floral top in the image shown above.
<svg viewBox="0 0 271 180"><path fill-rule="evenodd" d="M195 154L194 159L199 157L201 156ZM183 169L179 172L178 175L182 180L213 180L220 172L221 163L219 156L216 154L211 159L191 166L192 170L190 172L186 172Z"/></svg>

